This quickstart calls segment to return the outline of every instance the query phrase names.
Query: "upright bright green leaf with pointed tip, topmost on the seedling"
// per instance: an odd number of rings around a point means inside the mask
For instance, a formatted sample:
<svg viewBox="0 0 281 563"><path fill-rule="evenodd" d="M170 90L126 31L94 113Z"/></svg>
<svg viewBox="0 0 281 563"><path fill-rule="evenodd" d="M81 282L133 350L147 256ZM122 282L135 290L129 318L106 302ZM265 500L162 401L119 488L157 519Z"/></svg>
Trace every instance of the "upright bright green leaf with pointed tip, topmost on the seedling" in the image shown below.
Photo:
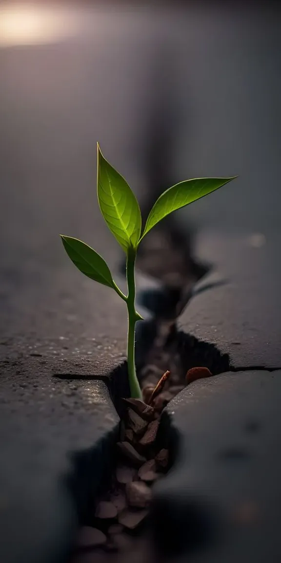
<svg viewBox="0 0 281 563"><path fill-rule="evenodd" d="M97 190L99 207L108 228L126 253L137 248L142 217L126 180L103 157L98 145Z"/></svg>

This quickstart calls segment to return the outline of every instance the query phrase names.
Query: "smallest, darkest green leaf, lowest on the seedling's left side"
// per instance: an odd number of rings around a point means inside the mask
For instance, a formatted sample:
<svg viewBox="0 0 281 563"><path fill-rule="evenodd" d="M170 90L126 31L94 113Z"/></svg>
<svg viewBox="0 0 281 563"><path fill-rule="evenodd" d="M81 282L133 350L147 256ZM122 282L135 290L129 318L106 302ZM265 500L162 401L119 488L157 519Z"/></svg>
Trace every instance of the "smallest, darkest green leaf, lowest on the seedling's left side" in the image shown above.
<svg viewBox="0 0 281 563"><path fill-rule="evenodd" d="M107 263L93 248L72 236L61 235L61 239L70 260L80 272L95 282L116 289Z"/></svg>

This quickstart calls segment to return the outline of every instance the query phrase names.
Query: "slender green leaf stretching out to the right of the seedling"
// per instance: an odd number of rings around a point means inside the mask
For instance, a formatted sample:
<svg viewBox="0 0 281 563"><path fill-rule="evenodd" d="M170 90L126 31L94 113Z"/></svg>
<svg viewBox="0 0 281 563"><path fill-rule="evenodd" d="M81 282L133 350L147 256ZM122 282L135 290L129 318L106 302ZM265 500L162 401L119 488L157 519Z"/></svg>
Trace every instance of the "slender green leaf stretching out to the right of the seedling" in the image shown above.
<svg viewBox="0 0 281 563"><path fill-rule="evenodd" d="M160 195L160 198L153 205L140 240L172 211L203 198L203 196L224 186L234 178L237 178L237 176L232 178L195 178L194 180L179 182L179 184L170 187L169 190Z"/></svg>

